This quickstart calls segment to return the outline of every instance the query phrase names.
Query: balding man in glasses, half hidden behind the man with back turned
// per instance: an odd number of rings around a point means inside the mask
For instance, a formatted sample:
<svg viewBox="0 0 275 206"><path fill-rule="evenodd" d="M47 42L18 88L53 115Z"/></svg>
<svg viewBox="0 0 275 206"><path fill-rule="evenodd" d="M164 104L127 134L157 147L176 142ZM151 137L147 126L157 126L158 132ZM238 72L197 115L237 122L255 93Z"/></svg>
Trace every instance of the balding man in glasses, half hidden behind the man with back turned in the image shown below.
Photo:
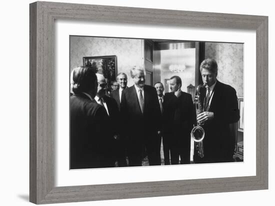
<svg viewBox="0 0 275 206"><path fill-rule="evenodd" d="M96 73L96 76L97 76L98 86L97 86L97 93L94 99L96 100L97 103L101 104L106 109L110 120L110 127L106 129L109 129L109 131L111 132L111 135L113 136L112 143L111 143L112 146L110 148L110 152L112 153L111 164L114 166L115 161L117 161L118 166L126 166L126 157L120 141L121 128L119 127L119 123L120 123L119 110L118 110L116 101L113 98L105 95L107 84L103 74Z"/></svg>

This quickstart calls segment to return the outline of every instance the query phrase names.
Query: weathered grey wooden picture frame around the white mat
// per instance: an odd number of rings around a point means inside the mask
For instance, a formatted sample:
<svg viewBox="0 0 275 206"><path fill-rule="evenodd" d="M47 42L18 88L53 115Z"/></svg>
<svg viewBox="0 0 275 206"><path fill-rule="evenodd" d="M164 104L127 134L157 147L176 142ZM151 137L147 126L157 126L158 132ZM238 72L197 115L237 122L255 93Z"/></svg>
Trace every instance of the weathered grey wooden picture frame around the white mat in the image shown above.
<svg viewBox="0 0 275 206"><path fill-rule="evenodd" d="M256 31L256 175L54 186L54 20L252 29ZM268 188L268 17L135 7L30 4L30 191L36 204Z"/></svg>

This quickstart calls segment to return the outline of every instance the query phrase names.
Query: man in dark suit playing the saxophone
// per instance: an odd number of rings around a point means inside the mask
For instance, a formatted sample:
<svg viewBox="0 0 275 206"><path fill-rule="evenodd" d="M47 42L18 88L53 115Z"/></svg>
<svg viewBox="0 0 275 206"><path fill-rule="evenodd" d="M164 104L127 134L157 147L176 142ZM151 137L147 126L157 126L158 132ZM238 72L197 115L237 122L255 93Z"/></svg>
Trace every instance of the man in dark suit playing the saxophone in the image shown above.
<svg viewBox="0 0 275 206"><path fill-rule="evenodd" d="M197 116L197 120L204 123L204 157L200 158L195 152L194 161L233 161L235 139L230 135L229 124L239 119L236 91L216 79L217 63L214 59L203 60L200 72L203 83L206 83L206 88L201 88L200 92L204 111Z"/></svg>

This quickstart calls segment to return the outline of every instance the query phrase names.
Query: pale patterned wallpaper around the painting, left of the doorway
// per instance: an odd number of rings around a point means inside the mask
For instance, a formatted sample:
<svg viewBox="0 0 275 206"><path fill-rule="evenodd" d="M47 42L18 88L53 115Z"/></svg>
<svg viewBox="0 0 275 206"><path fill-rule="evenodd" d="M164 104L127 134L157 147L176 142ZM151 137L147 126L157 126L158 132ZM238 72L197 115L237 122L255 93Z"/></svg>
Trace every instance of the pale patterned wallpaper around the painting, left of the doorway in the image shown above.
<svg viewBox="0 0 275 206"><path fill-rule="evenodd" d="M117 56L117 73L128 75L128 86L132 85L130 68L143 66L143 40L127 38L104 38L70 36L70 71L83 65L83 56Z"/></svg>

